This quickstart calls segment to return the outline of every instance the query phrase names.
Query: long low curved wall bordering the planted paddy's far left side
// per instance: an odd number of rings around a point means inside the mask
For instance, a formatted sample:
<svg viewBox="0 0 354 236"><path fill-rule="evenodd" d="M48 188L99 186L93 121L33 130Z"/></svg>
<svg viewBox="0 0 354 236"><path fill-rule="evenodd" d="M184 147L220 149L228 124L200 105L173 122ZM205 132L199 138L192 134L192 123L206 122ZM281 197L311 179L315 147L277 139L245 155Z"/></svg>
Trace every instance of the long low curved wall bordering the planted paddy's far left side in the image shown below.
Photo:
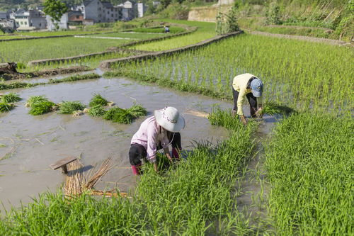
<svg viewBox="0 0 354 236"><path fill-rule="evenodd" d="M217 35L213 38L210 38L210 39L207 39L207 40L204 40L200 43L195 43L193 45L187 45L185 47L178 47L178 48L174 48L174 49L171 49L171 50L165 50L165 51L160 51L160 52L149 52L149 53L144 53L144 54L141 54L141 55L135 55L135 56L130 56L130 57L122 57L122 58L118 58L118 59L112 59L112 60L105 60L103 62L101 62L100 64L100 68L101 69L109 69L110 67L112 67L113 64L117 64L119 62L134 62L134 61L141 61L141 60L147 60L147 59L150 59L150 58L156 58L156 57L161 57L161 56L164 56L164 55L171 55L173 53L176 53L176 52L183 52L183 51L186 51L186 50L192 50L192 49L195 49L195 48L198 48L198 47L203 47L203 46L206 46L206 45L210 45L210 43L215 43L219 40L222 40L224 38L229 38L229 37L232 37L234 35L239 35L241 33L244 33L244 31L237 31L237 32L233 32L233 33L227 33L225 35Z"/></svg>

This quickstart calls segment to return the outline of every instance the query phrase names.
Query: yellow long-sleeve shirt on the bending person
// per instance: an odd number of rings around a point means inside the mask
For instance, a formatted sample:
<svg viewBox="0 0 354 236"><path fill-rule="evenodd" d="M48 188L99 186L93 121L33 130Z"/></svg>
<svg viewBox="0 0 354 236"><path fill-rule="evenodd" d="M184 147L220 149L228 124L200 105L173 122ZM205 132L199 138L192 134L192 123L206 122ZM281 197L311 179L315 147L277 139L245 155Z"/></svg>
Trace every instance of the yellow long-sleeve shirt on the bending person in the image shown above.
<svg viewBox="0 0 354 236"><path fill-rule="evenodd" d="M249 94L252 92L251 89L246 89L247 83L249 82L249 79L252 77L255 77L253 74L239 74L238 76L234 77L234 81L232 82L232 86L236 91L239 92L239 98L237 99L237 115L244 115L244 111L242 111L242 104L244 103L244 99L246 97L246 94ZM262 97L257 98L257 104L258 107L262 106Z"/></svg>

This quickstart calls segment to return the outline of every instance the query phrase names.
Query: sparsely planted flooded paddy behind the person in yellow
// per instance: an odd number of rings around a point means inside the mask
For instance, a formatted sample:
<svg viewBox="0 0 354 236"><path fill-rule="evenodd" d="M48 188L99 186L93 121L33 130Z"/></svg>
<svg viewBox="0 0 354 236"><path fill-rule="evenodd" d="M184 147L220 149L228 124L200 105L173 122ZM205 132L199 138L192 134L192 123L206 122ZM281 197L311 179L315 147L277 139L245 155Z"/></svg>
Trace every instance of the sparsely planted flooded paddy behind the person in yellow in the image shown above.
<svg viewBox="0 0 354 236"><path fill-rule="evenodd" d="M265 100L297 109L338 111L354 106L352 52L348 47L238 35L197 50L115 68L133 78L171 80L187 91L194 92L193 87L229 99L232 79L249 72L263 80Z"/></svg>

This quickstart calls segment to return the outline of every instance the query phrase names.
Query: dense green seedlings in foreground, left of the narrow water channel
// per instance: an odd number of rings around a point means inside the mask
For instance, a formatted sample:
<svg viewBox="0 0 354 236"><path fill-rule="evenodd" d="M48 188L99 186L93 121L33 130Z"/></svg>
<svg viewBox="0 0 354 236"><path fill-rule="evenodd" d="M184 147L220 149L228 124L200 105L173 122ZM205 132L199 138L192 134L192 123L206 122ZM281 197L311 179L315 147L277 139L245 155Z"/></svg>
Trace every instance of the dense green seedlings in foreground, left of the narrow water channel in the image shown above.
<svg viewBox="0 0 354 236"><path fill-rule="evenodd" d="M13 209L0 220L0 234L252 233L248 219L236 210L232 191L253 150L256 124L241 125L230 113L224 120L233 125L229 138L219 145L195 143L187 159L171 166L165 166L169 162L160 157L159 173L145 164L132 198L98 199L86 194L64 198L62 193L44 193L34 203Z"/></svg>

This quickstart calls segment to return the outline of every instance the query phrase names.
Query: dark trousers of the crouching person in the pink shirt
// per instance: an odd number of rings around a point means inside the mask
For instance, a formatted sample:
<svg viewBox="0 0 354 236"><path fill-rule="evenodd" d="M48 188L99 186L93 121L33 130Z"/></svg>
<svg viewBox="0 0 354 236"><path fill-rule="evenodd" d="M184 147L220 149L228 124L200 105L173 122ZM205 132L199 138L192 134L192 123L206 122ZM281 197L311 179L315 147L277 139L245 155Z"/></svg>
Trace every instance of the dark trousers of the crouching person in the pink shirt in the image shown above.
<svg viewBox="0 0 354 236"><path fill-rule="evenodd" d="M169 140L172 140L171 144L173 148L178 148L178 150L181 149L181 134L180 133L169 133ZM162 146L159 143L159 145L156 146L157 150L161 150ZM136 166L138 164L142 164L141 159L147 157L147 150L142 145L139 145L137 143L133 143L130 146L129 150L129 161L132 166Z"/></svg>

